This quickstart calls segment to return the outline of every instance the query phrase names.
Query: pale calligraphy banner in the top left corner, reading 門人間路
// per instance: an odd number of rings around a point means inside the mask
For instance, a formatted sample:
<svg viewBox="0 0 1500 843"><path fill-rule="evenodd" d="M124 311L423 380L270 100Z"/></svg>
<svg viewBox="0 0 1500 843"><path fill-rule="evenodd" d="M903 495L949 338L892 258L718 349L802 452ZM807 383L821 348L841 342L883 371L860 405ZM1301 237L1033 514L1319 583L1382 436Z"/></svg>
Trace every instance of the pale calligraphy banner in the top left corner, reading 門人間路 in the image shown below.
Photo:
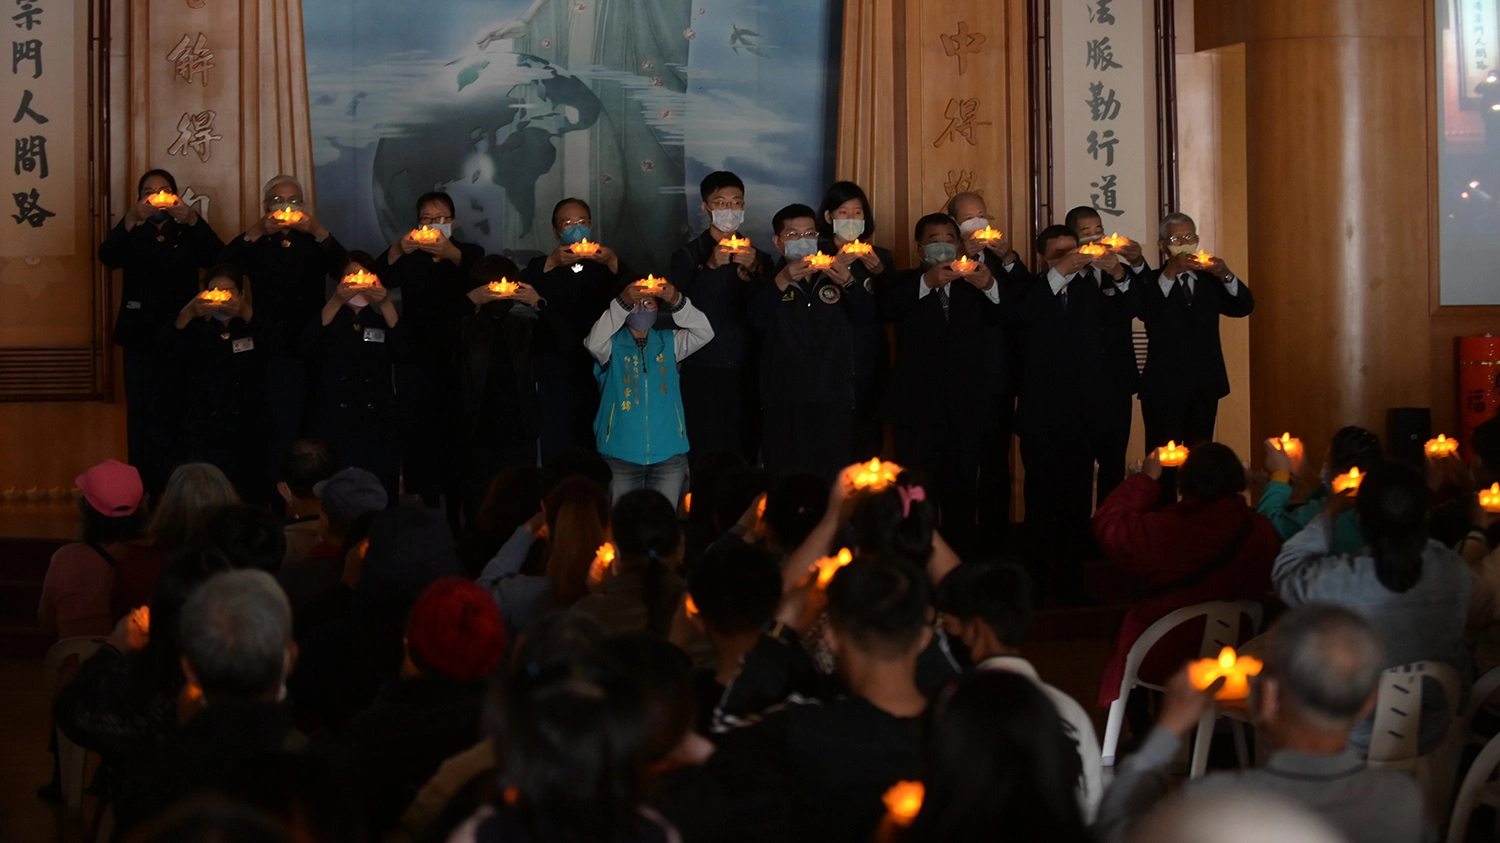
<svg viewBox="0 0 1500 843"><path fill-rule="evenodd" d="M82 0L27 0L3 15L10 63L0 72L8 156L0 166L0 258L70 256L80 213L87 216L88 6ZM80 184L80 178L84 180ZM86 220L87 222L87 220Z"/></svg>

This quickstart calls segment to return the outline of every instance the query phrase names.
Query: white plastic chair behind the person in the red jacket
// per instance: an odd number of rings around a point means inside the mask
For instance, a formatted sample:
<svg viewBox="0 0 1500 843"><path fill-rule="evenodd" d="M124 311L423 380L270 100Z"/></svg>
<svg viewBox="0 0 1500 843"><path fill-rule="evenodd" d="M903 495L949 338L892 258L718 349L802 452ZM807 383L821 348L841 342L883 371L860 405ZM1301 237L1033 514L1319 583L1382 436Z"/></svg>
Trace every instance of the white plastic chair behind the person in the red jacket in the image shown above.
<svg viewBox="0 0 1500 843"><path fill-rule="evenodd" d="M1119 746L1120 729L1125 724L1125 700L1130 699L1130 692L1137 687L1146 687L1158 692L1162 690L1161 686L1142 681L1138 675L1140 663L1146 660L1146 654L1150 652L1150 648L1155 646L1158 640L1182 624L1196 618L1203 618L1203 642L1198 645L1198 657L1210 658L1218 656L1226 646L1240 645L1239 627L1242 618L1250 618L1250 634L1257 634L1260 632L1260 621L1263 616L1262 612L1260 603L1256 603L1254 600L1215 600L1212 603L1184 606L1182 609L1178 609L1176 612L1172 612L1166 618L1161 618L1155 624L1146 627L1146 632L1136 639L1136 644L1125 656L1125 676L1120 680L1120 694L1110 704L1110 717L1104 726L1104 746L1101 747L1104 766L1114 765L1114 748ZM1203 722L1198 723L1198 732L1192 741L1192 778L1202 777L1208 770L1209 742L1214 740L1214 722L1215 716L1210 712L1204 716ZM1234 722L1233 728L1234 747L1239 750L1240 765L1244 765L1244 724Z"/></svg>

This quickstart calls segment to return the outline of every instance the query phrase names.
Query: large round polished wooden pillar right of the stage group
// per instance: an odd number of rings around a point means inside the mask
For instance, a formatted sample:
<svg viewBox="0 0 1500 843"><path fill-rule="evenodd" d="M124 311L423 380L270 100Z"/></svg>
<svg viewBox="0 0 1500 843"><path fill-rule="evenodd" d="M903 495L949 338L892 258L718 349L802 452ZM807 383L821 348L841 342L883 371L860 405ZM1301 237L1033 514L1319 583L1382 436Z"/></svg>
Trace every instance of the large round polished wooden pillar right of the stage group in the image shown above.
<svg viewBox="0 0 1500 843"><path fill-rule="evenodd" d="M1384 436L1389 408L1430 400L1432 8L1230 4L1245 42L1251 432L1300 434L1316 468L1340 426ZM1200 46L1222 6L1198 3Z"/></svg>

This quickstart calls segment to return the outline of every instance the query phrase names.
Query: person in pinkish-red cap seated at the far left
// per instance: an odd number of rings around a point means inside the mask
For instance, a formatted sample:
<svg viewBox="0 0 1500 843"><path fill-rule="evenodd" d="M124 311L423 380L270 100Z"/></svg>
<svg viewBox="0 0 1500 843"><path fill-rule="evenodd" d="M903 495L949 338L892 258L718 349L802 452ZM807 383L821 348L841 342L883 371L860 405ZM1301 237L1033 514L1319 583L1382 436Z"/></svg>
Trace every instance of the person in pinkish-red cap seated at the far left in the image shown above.
<svg viewBox="0 0 1500 843"><path fill-rule="evenodd" d="M42 579L42 602L36 622L57 638L106 636L116 618L110 612L116 556L135 550L126 546L141 537L146 488L141 474L123 462L106 459L75 480L78 542L52 554Z"/></svg>

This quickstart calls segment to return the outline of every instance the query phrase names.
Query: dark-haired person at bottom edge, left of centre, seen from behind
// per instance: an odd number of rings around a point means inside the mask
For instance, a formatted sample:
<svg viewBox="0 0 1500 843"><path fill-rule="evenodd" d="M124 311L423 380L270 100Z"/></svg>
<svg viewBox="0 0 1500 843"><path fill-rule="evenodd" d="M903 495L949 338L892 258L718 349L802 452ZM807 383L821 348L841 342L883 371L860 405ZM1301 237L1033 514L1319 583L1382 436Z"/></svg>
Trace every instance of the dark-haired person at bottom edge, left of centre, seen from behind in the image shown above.
<svg viewBox="0 0 1500 843"><path fill-rule="evenodd" d="M598 656L512 672L492 694L495 798L450 843L668 843L644 806L650 740L639 682Z"/></svg>

